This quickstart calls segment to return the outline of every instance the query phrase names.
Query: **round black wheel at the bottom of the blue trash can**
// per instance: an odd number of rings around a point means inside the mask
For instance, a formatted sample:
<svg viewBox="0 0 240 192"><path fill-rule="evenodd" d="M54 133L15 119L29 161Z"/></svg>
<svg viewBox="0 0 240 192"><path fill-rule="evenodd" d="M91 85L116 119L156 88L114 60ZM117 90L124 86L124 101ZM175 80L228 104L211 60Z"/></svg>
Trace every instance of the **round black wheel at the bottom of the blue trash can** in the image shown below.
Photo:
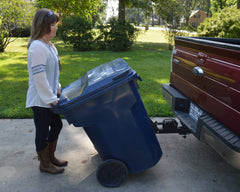
<svg viewBox="0 0 240 192"><path fill-rule="evenodd" d="M104 187L119 187L127 176L127 166L115 159L104 161L97 169L98 182Z"/></svg>

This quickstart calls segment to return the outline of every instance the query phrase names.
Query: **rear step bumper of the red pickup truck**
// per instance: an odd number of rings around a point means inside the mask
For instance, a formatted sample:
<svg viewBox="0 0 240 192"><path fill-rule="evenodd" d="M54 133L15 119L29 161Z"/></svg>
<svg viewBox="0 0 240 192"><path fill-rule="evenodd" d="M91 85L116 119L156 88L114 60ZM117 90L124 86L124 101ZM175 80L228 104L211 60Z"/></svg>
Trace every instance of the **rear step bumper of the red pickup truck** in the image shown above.
<svg viewBox="0 0 240 192"><path fill-rule="evenodd" d="M192 118L189 114L191 101L171 85L163 84L162 94L184 126L200 141L210 145L229 164L240 169L240 137L238 135L202 109L203 113L197 119Z"/></svg>

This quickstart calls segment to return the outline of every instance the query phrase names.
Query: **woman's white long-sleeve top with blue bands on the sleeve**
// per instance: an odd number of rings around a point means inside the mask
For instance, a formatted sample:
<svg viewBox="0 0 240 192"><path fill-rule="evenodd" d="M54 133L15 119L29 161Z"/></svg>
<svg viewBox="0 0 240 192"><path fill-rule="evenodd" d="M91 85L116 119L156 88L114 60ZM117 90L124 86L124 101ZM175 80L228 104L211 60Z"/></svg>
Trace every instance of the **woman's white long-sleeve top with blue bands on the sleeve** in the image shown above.
<svg viewBox="0 0 240 192"><path fill-rule="evenodd" d="M58 52L56 47L34 40L28 49L28 91L26 108L50 108L57 101L59 84Z"/></svg>

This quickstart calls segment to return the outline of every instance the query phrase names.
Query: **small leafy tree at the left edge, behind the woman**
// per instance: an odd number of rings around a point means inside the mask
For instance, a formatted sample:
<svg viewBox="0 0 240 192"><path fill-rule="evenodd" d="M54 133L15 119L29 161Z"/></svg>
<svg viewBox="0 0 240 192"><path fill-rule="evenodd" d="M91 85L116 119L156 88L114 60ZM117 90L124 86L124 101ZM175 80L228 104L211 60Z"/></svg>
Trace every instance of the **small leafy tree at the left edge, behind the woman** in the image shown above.
<svg viewBox="0 0 240 192"><path fill-rule="evenodd" d="M32 6L24 0L0 1L0 52L13 41L15 28L31 25L33 13Z"/></svg>

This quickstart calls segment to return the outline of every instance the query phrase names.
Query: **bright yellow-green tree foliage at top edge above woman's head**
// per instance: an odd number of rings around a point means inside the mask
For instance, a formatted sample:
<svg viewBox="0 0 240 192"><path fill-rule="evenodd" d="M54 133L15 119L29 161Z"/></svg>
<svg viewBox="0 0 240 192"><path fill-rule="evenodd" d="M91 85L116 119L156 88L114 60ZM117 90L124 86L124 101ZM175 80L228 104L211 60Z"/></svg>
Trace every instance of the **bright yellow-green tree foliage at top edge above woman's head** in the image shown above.
<svg viewBox="0 0 240 192"><path fill-rule="evenodd" d="M37 0L36 2L38 8L49 8L57 12L60 17L70 14L91 17L102 3L99 0Z"/></svg>

